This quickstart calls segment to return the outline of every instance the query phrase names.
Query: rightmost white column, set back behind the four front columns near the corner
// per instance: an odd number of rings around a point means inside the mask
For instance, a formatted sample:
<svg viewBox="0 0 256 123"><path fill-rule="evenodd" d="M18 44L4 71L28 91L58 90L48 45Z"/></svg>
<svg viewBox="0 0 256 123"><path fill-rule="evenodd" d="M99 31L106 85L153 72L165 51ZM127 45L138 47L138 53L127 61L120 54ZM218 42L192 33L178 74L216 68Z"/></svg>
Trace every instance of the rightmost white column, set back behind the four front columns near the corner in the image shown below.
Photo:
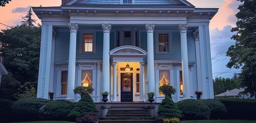
<svg viewBox="0 0 256 123"><path fill-rule="evenodd" d="M199 33L193 32L196 44L196 56L197 56L197 85L198 91L203 91L202 88L202 72L201 72L201 56L200 56L200 44L199 44Z"/></svg>

